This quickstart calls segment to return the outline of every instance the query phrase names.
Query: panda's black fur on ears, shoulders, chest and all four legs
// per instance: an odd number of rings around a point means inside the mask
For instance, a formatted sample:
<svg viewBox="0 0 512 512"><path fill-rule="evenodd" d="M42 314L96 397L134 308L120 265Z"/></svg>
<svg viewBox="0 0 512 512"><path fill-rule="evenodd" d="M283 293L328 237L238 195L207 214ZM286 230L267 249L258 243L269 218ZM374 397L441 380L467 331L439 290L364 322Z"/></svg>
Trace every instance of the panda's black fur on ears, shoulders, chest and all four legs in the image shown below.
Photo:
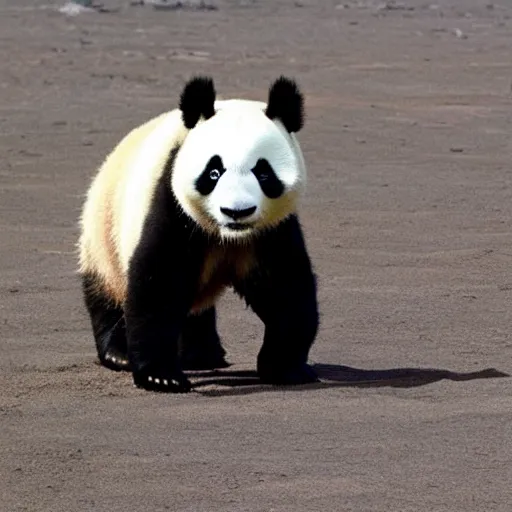
<svg viewBox="0 0 512 512"><path fill-rule="evenodd" d="M200 77L187 84L180 98L187 129L215 115L214 98L211 80ZM290 132L302 127L302 97L294 82L283 78L274 83L266 114ZM131 371L138 387L167 392L191 389L183 370L228 366L215 306L190 313L206 260L215 251L227 251L222 254L228 263L229 258L253 260L250 270L220 266L211 278L214 284L208 285L232 286L265 324L257 360L262 382L317 380L307 364L318 328L316 280L297 214L261 231L247 245L225 245L183 213L170 186L179 151L176 147L170 152L154 188L130 259L124 302L112 299L94 270L82 271L100 361L114 370Z"/></svg>

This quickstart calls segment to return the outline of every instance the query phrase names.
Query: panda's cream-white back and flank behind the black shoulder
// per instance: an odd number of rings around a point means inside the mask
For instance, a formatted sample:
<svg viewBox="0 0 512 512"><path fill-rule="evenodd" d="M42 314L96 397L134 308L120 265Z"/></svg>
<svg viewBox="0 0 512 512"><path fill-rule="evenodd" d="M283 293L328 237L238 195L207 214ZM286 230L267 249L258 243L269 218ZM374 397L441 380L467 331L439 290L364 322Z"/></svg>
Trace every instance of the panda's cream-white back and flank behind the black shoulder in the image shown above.
<svg viewBox="0 0 512 512"><path fill-rule="evenodd" d="M81 217L80 270L123 302L129 260L140 239L154 188L169 153L186 134L173 110L130 131L94 177Z"/></svg>

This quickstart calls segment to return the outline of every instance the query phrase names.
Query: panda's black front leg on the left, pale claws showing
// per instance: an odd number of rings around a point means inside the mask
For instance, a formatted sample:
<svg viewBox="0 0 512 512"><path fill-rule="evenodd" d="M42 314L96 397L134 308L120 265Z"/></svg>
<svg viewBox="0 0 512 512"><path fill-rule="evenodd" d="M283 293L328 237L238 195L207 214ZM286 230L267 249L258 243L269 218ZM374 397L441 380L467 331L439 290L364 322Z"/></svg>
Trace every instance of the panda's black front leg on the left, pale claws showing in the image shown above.
<svg viewBox="0 0 512 512"><path fill-rule="evenodd" d="M148 226L130 261L124 307L128 359L137 387L184 393L191 385L180 367L178 343L199 262L171 245L176 235L169 229L158 227Z"/></svg>

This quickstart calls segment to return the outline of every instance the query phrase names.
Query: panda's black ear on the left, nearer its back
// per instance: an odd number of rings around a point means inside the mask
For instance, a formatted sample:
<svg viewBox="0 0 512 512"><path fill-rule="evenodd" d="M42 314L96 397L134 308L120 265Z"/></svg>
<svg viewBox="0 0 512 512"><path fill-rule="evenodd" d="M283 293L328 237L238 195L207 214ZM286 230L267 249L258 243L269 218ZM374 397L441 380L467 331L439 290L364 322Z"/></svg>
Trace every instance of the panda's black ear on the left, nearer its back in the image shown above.
<svg viewBox="0 0 512 512"><path fill-rule="evenodd" d="M213 80L207 76L196 76L190 79L180 97L180 110L183 122L190 130L203 116L209 119L215 114L215 87Z"/></svg>

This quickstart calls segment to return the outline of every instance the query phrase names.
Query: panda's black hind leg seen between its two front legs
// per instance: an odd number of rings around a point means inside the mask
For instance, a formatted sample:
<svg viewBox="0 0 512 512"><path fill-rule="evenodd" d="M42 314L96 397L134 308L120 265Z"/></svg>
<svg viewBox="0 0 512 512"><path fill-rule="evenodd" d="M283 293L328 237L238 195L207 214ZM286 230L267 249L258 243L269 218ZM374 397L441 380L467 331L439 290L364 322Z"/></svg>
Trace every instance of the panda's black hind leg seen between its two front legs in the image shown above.
<svg viewBox="0 0 512 512"><path fill-rule="evenodd" d="M181 367L184 370L214 370L227 368L217 332L215 307L191 314L185 323L179 340Z"/></svg>

